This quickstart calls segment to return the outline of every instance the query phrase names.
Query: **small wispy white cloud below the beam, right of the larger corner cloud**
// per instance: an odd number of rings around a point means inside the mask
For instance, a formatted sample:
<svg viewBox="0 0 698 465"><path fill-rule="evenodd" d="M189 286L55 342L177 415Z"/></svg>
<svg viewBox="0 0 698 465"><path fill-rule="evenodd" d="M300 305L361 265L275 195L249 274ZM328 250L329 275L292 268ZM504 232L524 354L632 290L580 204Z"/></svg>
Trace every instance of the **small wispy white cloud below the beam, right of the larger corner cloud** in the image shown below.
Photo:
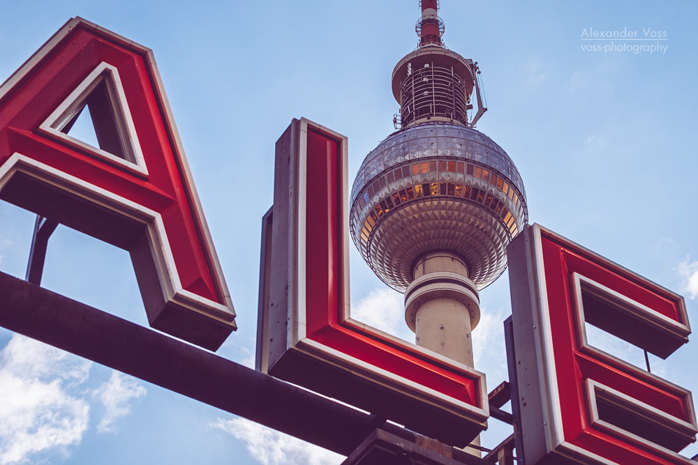
<svg viewBox="0 0 698 465"><path fill-rule="evenodd" d="M97 425L97 432L116 432L114 422L131 412L131 401L146 395L147 390L142 384L121 372L112 372L109 381L97 388L96 393L106 412Z"/></svg>

